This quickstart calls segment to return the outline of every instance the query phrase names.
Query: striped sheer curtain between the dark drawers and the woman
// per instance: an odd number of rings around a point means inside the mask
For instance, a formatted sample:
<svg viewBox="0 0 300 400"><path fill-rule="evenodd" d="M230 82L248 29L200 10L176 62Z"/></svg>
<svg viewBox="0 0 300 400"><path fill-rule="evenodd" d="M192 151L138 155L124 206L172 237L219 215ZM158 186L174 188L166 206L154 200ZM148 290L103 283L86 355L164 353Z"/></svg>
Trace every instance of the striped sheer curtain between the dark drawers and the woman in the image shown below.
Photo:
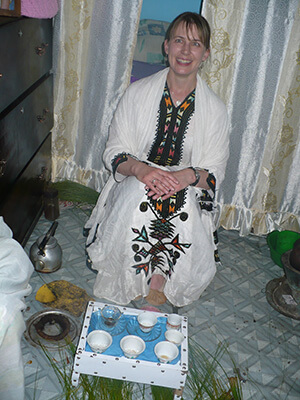
<svg viewBox="0 0 300 400"><path fill-rule="evenodd" d="M130 82L142 0L61 0L54 21L52 180L100 190L102 153Z"/></svg>

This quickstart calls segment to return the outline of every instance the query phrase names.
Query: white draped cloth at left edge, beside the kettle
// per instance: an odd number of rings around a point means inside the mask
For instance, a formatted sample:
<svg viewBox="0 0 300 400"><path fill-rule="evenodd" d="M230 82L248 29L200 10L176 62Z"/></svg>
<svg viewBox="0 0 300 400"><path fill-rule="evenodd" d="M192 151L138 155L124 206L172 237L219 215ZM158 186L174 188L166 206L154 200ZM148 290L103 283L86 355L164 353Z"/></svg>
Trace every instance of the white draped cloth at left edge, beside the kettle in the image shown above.
<svg viewBox="0 0 300 400"><path fill-rule="evenodd" d="M31 293L33 270L24 249L0 217L0 399L24 398L21 336L25 323L21 311L24 296Z"/></svg>

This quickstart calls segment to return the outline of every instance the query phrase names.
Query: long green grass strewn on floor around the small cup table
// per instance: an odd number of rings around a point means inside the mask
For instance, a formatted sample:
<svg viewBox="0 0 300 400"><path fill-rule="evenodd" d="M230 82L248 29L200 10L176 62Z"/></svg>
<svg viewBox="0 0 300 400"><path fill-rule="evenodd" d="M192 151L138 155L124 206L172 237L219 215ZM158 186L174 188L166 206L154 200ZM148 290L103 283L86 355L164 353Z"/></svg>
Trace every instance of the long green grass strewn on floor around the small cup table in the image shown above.
<svg viewBox="0 0 300 400"><path fill-rule="evenodd" d="M79 385L72 386L72 362L76 347L73 343L59 350L60 362L52 358L49 351L42 346L44 355L55 372L62 388L57 400L145 400L146 385L136 385L116 379L80 375ZM229 357L232 363L232 374L229 375L222 366L223 356ZM231 357L226 344L219 343L212 354L194 340L189 340L189 372L186 388L189 397L186 400L242 400L242 387L238 376L235 361ZM137 396L137 390L139 390ZM172 400L173 389L151 386L153 400Z"/></svg>

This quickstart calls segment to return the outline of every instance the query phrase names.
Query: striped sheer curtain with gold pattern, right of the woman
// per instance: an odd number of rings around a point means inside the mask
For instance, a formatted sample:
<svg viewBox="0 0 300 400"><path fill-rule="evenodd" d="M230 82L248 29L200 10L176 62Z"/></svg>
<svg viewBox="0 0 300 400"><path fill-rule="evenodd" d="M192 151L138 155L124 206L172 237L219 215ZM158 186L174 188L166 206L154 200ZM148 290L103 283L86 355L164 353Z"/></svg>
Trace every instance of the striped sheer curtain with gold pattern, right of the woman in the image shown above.
<svg viewBox="0 0 300 400"><path fill-rule="evenodd" d="M201 74L226 103L230 157L217 224L241 235L300 225L300 2L204 0Z"/></svg>

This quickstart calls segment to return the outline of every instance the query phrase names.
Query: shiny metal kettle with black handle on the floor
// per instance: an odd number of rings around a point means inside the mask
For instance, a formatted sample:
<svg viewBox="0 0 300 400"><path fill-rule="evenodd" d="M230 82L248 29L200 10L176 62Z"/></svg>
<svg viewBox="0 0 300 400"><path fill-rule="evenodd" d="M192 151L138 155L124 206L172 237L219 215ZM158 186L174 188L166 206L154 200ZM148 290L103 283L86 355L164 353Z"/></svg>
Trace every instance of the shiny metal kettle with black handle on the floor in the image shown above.
<svg viewBox="0 0 300 400"><path fill-rule="evenodd" d="M54 221L46 235L40 236L31 246L29 258L37 272L50 273L62 263L62 249L54 237L58 222Z"/></svg>

